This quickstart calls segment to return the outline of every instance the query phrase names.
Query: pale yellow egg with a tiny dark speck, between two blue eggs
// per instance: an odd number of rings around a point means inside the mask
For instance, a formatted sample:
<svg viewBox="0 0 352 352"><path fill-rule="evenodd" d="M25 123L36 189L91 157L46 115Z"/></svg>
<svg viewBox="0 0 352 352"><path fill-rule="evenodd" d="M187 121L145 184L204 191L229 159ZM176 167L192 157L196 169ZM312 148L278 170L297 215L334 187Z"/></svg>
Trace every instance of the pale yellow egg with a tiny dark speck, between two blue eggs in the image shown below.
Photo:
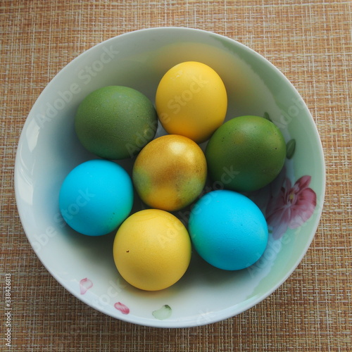
<svg viewBox="0 0 352 352"><path fill-rule="evenodd" d="M186 272L191 240L186 227L165 210L146 209L130 215L113 243L120 275L146 291L166 289Z"/></svg>

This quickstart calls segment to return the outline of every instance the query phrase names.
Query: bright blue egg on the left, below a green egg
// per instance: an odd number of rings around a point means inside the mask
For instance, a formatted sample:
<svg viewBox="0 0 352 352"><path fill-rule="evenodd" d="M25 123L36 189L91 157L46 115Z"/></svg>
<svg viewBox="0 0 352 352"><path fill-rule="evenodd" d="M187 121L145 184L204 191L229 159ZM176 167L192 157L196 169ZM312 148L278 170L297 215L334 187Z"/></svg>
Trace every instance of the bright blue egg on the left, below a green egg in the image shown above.
<svg viewBox="0 0 352 352"><path fill-rule="evenodd" d="M88 236L108 234L132 210L132 180L113 161L86 161L65 178L58 203L65 222L73 230Z"/></svg>

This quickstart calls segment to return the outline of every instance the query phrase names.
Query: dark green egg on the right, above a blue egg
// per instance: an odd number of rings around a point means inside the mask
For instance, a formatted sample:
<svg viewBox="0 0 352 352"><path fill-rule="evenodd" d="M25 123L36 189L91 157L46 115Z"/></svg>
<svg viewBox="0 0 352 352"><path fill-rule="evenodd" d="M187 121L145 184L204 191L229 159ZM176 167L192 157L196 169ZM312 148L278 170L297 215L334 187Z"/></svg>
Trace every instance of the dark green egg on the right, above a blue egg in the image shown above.
<svg viewBox="0 0 352 352"><path fill-rule="evenodd" d="M265 187L279 175L285 160L282 132L259 116L240 116L225 122L206 146L210 178L218 187L234 191Z"/></svg>

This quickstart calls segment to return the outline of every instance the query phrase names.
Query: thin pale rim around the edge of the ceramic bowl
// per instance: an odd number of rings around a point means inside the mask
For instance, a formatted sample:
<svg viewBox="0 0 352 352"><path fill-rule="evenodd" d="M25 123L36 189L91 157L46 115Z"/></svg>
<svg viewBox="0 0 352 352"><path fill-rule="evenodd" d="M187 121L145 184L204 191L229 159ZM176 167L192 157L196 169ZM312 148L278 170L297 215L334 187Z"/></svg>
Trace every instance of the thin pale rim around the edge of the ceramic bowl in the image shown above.
<svg viewBox="0 0 352 352"><path fill-rule="evenodd" d="M61 70L58 71L58 73L56 73L56 75L54 75L54 77L51 78L51 80L49 81L48 84L46 84L46 87L44 87L44 89L42 89L42 92L39 94L39 96L37 96L36 101L34 102L32 108L30 109L30 112L27 115L27 118L25 120L25 123L23 125L23 128L21 130L20 133L20 138L18 140L18 148L15 154L15 168L14 168L14 188L15 188L15 201L16 201L16 205L18 208L18 214L20 216L20 222L23 226L23 230L26 234L26 237L28 239L28 241L30 242L32 249L34 250L34 253L36 253L37 258L39 258L39 260L42 262L42 265L44 265L44 268L46 268L46 270L48 270L48 272L50 273L50 275L52 277L54 277L54 279L56 279L56 281L63 286L66 290L68 290L70 292L70 294L73 294L73 296L75 296L76 298L78 298L80 301L86 303L88 306L90 306L91 308L94 308L95 310L100 311L101 313L105 314L105 315L109 315L111 316L111 318L115 318L118 320L122 320L125 322L130 322L136 325L142 325L142 326L149 326L149 327L162 327L162 328L182 328L182 327L196 327L196 326L201 326L201 325L210 325L213 324L215 322L220 322L222 320L226 320L228 318L233 318L236 315L239 315L241 313L243 313L246 310L249 310L250 308L253 308L253 306L256 306L258 303L260 303L261 301L264 301L265 298L268 298L268 296L270 296L274 291L276 291L280 286L282 286L282 284L291 276L291 274L294 272L294 270L296 270L296 268L298 267L298 265L301 263L301 261L303 260L303 257L306 256L306 253L310 247L310 244L312 243L314 237L315 237L315 233L318 230L318 225L320 223L320 219L322 217L322 208L323 208L323 204L324 204L324 199L325 199L325 189L326 189L326 165L325 165L325 158L324 158L324 152L322 149L322 142L320 140L320 136L318 133L318 128L315 125L315 121L313 119L313 116L311 115L310 111L307 108L307 112L308 112L308 117L311 120L311 122L313 122L313 126L314 128L314 138L315 140L318 142L318 149L319 149L319 160L320 163L322 165L322 169L324 170L324 175L322 175L322 192L321 192L321 199L320 199L320 203L319 203L319 208L316 210L317 212L317 217L316 217L316 222L315 225L313 226L313 230L310 234L310 238L308 239L306 246L304 247L301 255L297 258L296 262L294 263L294 265L292 265L291 269L288 270L287 274L284 275L284 277L282 277L282 279L279 280L279 282L277 282L277 284L275 284L275 286L271 287L271 289L269 289L268 291L265 291L265 294L260 295L256 298L254 298L253 300L251 300L249 303L246 303L241 309L238 308L234 308L234 306L230 306L227 307L225 309L222 310L218 310L216 312L216 316L211 319L210 321L206 321L206 322L195 322L194 320L182 320L181 323L177 322L177 321L168 321L168 320L148 320L148 322L144 322L141 320L144 320L144 318L139 318L136 319L137 317L135 315L132 316L125 316L125 315L121 315L119 317L116 317L112 314L109 314L108 312L106 312L106 310L103 309L99 309L96 306L94 306L92 303L88 302L87 300L85 300L82 296L79 296L77 294L76 291L73 291L72 289L70 289L70 287L65 284L65 282L63 282L60 277L58 277L58 275L56 274L56 272L54 272L53 270L51 270L51 268L49 268L49 265L47 265L47 263L41 258L41 256L39 255L39 253L37 253L37 251L35 251L34 246L32 244L32 241L30 239L30 237L28 237L27 232L28 232L28 225L26 222L26 218L25 218L25 213L23 213L23 208L21 206L21 202L20 202L20 194L19 194L19 177L18 177L18 173L19 168L20 168L20 153L21 153L21 148L20 146L23 144L23 142L25 141L25 131L27 130L27 127L30 123L30 118L33 115L33 111L35 110L37 103L40 99L40 97L42 95L44 95L46 93L47 90L50 89L51 84L54 84L57 77L61 74L61 72L63 70L66 70L67 68L70 67L70 65L73 65L73 63L75 63L76 61L80 60L83 56L89 54L91 51L96 50L97 47L99 46L103 46L106 44L109 44L110 42L113 42L115 39L120 38L120 37L128 37L131 35L136 35L136 34L141 34L144 32L153 32L153 31L160 31L160 30L166 30L166 31L191 31L191 32L199 32L201 34L206 34L206 35L211 35L215 38L218 39L222 39L225 40L226 42L228 42L231 45L235 45L235 46L239 46L241 49L243 49L244 51L248 51L251 55L256 56L257 58L260 59L260 61L265 61L266 65L270 65L270 67L275 70L275 72L277 73L277 75L279 75L279 77L281 77L286 84L288 84L291 89L294 90L294 92L296 92L296 94L298 94L298 96L301 96L301 94L298 93L298 91L296 90L296 88L294 87L294 85L288 80L288 78L284 75L284 73L282 73L275 65L273 65L270 61L268 61L267 58L265 58L264 56L262 56L261 54L259 54L258 52L254 51L253 49L251 49L249 46L246 46L245 44L242 44L241 42L237 42L237 40L232 39L230 37L226 37L225 35L222 34L218 34L215 32L210 32L207 30L200 30L197 28L192 28L192 27L175 27L175 26L170 26L170 27L150 27L150 28L143 28L143 29L139 29L139 30L133 30L130 32L125 32L122 34L118 34L114 37L110 37L108 39L103 40L103 42L100 42L98 44L95 44L94 46L90 47L89 49L83 51L81 54L79 54L78 56L76 56L75 58L73 58L72 61L70 61L68 64L66 64ZM302 99L303 101L303 99ZM306 103L305 103L306 104Z"/></svg>

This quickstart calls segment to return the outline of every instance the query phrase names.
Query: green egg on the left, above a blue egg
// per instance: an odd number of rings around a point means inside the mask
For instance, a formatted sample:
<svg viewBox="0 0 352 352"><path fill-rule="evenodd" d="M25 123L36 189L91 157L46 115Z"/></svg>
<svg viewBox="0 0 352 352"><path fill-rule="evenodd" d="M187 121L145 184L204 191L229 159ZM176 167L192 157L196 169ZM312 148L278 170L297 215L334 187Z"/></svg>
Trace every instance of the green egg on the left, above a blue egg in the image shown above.
<svg viewBox="0 0 352 352"><path fill-rule="evenodd" d="M84 148L112 160L137 154L154 138L157 127L151 101L130 87L96 89L75 115L75 131Z"/></svg>

